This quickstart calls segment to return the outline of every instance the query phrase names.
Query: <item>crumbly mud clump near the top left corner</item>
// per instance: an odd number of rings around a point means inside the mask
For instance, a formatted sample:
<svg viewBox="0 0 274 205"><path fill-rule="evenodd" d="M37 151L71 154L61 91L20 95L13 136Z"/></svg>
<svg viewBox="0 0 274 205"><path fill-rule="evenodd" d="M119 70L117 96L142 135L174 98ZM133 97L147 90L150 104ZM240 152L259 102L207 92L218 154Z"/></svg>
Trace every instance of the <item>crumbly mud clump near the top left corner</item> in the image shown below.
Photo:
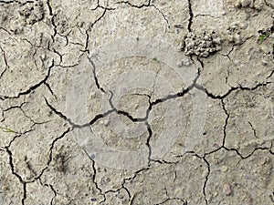
<svg viewBox="0 0 274 205"><path fill-rule="evenodd" d="M41 1L23 5L19 14L25 18L26 24L33 25L44 18L44 5Z"/></svg>

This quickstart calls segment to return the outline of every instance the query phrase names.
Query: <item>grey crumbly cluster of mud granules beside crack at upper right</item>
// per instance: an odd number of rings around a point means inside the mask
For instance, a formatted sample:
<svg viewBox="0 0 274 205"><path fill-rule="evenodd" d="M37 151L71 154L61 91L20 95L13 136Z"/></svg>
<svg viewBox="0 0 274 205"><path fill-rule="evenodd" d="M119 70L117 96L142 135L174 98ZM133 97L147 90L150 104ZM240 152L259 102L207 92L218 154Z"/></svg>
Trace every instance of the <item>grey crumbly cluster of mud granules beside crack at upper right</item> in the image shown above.
<svg viewBox="0 0 274 205"><path fill-rule="evenodd" d="M195 55L200 57L207 57L210 54L221 50L222 40L216 36L214 31L204 31L201 35L196 35L193 32L188 33L184 39L184 53L185 55Z"/></svg>

